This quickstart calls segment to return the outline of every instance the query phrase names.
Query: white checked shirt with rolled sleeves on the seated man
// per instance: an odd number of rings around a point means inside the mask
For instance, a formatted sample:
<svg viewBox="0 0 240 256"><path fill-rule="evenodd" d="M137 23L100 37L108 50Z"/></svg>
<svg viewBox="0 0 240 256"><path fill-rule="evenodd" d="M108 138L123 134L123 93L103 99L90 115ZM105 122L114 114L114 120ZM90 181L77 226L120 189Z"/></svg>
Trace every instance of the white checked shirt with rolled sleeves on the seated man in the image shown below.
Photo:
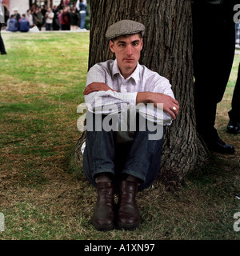
<svg viewBox="0 0 240 256"><path fill-rule="evenodd" d="M155 93L162 93L174 98L171 90L170 82L160 76L158 73L149 70L146 66L140 65L134 70L129 78L123 78L118 68L117 60L108 60L100 62L90 68L87 78L86 86L92 82L104 82L113 90L96 91L85 95L86 105L90 105L91 112L96 114L109 114L109 110L102 109L102 106L111 106L115 104L118 110L112 110L111 113L120 113L124 107L131 109L136 107L136 97L138 92L150 91ZM152 122L158 122L164 126L169 126L172 122L170 114L163 112L163 110L151 106L138 107L139 114L145 116Z"/></svg>

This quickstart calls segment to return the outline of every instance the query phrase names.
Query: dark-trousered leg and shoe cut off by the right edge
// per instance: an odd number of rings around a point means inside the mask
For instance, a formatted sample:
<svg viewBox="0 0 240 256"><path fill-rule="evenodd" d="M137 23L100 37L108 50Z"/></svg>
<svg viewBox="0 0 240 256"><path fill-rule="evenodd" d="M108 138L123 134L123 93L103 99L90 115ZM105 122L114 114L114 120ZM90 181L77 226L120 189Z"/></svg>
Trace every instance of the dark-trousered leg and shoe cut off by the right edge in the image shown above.
<svg viewBox="0 0 240 256"><path fill-rule="evenodd" d="M230 121L226 126L226 131L230 134L240 133L240 63L238 66L238 78L234 88L232 98L232 109L228 112Z"/></svg>

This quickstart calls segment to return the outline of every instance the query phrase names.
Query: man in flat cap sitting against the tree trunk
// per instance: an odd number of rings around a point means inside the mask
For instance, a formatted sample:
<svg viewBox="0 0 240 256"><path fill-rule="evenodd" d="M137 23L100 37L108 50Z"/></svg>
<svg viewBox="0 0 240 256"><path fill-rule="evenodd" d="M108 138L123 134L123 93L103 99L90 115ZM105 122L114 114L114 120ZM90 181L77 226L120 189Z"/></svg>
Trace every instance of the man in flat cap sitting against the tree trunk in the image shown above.
<svg viewBox="0 0 240 256"><path fill-rule="evenodd" d="M138 63L144 31L142 23L130 20L110 26L106 38L116 59L94 65L87 74L86 124L92 126L86 125L83 170L97 186L92 222L98 230L112 230L115 220L120 229L138 226L136 194L157 177L165 126L179 110L169 81ZM119 194L116 212L114 192Z"/></svg>

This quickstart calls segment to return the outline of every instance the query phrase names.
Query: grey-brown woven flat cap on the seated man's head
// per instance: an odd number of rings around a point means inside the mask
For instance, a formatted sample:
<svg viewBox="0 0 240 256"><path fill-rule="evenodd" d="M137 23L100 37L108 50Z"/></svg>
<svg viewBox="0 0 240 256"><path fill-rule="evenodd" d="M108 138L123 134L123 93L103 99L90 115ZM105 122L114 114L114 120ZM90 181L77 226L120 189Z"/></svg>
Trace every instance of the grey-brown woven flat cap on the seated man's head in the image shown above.
<svg viewBox="0 0 240 256"><path fill-rule="evenodd" d="M138 33L141 33L143 36L144 32L145 26L142 23L124 19L114 23L106 30L106 38L113 39L121 35Z"/></svg>

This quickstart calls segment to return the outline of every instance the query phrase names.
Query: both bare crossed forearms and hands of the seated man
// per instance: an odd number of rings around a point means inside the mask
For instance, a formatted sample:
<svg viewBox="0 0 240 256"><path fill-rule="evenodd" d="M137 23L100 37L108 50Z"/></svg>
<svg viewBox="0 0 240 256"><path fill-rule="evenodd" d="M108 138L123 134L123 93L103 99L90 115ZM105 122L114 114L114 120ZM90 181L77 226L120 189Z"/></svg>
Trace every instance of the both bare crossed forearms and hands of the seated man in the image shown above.
<svg viewBox="0 0 240 256"><path fill-rule="evenodd" d="M94 91L99 91L99 90L113 90L109 86L106 85L104 82L92 82L88 86L86 86L83 94L87 95L90 94ZM161 93L153 93L150 91L144 91L144 92L138 92L137 98L136 98L136 105L138 103L154 103L154 106L157 107L158 103L163 103L163 111L167 112L170 114L170 116L173 119L176 119L176 115L178 114L179 111L179 104L178 101L176 101L174 98L166 95L166 94L161 94Z"/></svg>

